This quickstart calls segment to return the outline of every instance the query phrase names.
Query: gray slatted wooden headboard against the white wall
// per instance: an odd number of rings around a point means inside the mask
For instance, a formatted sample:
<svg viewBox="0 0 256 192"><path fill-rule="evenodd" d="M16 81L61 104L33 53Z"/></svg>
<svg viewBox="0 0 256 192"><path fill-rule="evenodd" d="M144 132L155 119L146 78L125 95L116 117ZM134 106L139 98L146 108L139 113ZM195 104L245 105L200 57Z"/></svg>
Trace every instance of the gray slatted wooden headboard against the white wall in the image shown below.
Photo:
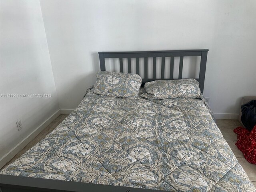
<svg viewBox="0 0 256 192"><path fill-rule="evenodd" d="M173 80L174 57L179 57L179 76L182 79L183 58L186 56L200 56L200 71L198 80L201 92L204 91L204 77L206 71L208 49L198 50L171 50L171 51L132 51L132 52L98 52L100 57L100 70L105 71L105 58L119 58L120 72L124 72L123 58L128 60L128 73L132 73L131 58L136 58L136 74L140 75L140 58L144 58L144 78L142 78L142 86L146 82L154 80ZM156 78L156 58L162 58L161 62L161 78ZM170 77L164 78L165 58L170 57ZM148 58L153 58L153 77L148 78Z"/></svg>

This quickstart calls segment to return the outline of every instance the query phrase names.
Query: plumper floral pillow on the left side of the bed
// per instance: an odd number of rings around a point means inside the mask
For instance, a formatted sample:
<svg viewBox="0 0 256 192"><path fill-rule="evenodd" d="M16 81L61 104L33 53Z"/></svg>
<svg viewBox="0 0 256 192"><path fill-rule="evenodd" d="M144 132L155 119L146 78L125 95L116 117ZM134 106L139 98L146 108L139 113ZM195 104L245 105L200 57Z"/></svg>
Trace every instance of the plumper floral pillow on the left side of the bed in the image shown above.
<svg viewBox="0 0 256 192"><path fill-rule="evenodd" d="M137 98L142 79L137 74L100 71L93 92L119 98Z"/></svg>

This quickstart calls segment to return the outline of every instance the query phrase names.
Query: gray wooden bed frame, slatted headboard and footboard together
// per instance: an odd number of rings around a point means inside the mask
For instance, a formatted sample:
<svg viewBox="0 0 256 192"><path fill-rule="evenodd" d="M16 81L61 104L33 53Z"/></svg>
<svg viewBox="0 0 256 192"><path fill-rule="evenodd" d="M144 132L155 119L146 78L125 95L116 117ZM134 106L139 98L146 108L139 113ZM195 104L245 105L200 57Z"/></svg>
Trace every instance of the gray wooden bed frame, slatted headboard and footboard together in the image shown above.
<svg viewBox="0 0 256 192"><path fill-rule="evenodd" d="M178 79L182 79L183 58L185 56L200 56L200 72L197 79L201 92L204 91L204 77L208 49L202 50L173 50L173 51L139 51L139 52L98 52L100 56L100 70L106 70L105 58L119 58L120 72L123 72L123 58L128 58L128 73L132 72L131 58L136 58L136 73L140 74L139 58L144 58L144 78L142 86L154 80L172 80L174 57L180 57ZM156 58L161 57L161 78L156 78ZM165 58L170 57L170 77L164 78ZM152 78L148 78L148 58L153 58ZM60 181L42 178L22 177L0 174L1 192L164 192L163 190L120 187L102 184L90 184L71 181Z"/></svg>

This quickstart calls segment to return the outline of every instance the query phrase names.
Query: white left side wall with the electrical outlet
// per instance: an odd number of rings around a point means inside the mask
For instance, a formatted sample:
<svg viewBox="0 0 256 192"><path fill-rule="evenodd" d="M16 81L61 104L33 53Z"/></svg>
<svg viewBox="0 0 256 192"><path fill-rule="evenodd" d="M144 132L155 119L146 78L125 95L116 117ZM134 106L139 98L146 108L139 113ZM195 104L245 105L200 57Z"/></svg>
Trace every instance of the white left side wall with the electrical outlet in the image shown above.
<svg viewBox="0 0 256 192"><path fill-rule="evenodd" d="M52 95L0 98L2 167L46 126L47 119L59 112L59 106L40 2L1 1L0 17L1 94ZM20 131L18 120L23 125Z"/></svg>

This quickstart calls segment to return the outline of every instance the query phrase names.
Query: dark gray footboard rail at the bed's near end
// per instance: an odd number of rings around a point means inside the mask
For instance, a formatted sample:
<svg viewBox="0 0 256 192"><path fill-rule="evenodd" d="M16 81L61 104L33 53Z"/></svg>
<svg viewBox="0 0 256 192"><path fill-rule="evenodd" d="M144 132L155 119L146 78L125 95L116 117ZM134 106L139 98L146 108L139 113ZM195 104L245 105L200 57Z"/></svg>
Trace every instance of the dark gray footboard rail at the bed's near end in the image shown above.
<svg viewBox="0 0 256 192"><path fill-rule="evenodd" d="M0 174L1 192L167 192Z"/></svg>

